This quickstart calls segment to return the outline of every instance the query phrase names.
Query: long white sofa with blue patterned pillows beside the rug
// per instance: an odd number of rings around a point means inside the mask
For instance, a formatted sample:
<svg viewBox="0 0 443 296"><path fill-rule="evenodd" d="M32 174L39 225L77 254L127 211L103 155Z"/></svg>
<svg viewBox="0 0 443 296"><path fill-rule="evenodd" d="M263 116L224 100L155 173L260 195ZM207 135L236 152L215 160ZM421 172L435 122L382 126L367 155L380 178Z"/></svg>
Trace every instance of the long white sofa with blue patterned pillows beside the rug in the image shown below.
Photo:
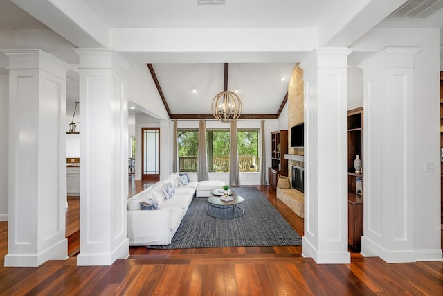
<svg viewBox="0 0 443 296"><path fill-rule="evenodd" d="M175 190L167 198L163 188L170 183ZM199 182L179 186L179 173L173 173L127 200L129 245L169 245L188 211ZM142 210L140 202L156 200L160 209Z"/></svg>

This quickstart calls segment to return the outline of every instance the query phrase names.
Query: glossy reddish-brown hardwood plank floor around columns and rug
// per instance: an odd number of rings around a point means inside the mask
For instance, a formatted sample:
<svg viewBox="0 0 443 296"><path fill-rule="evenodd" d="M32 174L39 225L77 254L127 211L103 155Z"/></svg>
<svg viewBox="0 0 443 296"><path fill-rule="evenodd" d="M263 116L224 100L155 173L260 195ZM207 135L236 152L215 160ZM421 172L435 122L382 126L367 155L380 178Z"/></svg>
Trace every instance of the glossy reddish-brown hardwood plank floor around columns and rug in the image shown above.
<svg viewBox="0 0 443 296"><path fill-rule="evenodd" d="M302 235L302 218L273 189L257 188ZM71 202L78 198L69 199L74 209ZM111 266L77 266L73 256L5 268L7 227L0 222L0 295L443 295L442 261L388 264L353 253L350 264L318 265L301 256L301 247L131 247L129 259ZM66 222L67 236L73 227Z"/></svg>

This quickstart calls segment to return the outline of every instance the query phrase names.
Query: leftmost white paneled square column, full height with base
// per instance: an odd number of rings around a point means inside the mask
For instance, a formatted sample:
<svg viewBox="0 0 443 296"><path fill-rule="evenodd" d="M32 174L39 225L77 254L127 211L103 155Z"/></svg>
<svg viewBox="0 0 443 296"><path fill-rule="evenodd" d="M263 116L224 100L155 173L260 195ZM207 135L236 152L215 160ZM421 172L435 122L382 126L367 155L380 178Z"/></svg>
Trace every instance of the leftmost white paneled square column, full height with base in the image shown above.
<svg viewBox="0 0 443 296"><path fill-rule="evenodd" d="M9 57L8 254L5 266L66 259L66 71L39 49Z"/></svg>

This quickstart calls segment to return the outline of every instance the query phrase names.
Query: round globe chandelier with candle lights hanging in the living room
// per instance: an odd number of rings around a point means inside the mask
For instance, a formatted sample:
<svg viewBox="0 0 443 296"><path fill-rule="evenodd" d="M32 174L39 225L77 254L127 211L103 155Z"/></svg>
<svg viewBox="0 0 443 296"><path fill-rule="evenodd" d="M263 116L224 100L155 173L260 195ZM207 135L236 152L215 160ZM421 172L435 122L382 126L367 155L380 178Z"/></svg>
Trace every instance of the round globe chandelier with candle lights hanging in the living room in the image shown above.
<svg viewBox="0 0 443 296"><path fill-rule="evenodd" d="M227 123L242 114L242 101L235 92L224 90L213 98L212 110L215 119Z"/></svg>

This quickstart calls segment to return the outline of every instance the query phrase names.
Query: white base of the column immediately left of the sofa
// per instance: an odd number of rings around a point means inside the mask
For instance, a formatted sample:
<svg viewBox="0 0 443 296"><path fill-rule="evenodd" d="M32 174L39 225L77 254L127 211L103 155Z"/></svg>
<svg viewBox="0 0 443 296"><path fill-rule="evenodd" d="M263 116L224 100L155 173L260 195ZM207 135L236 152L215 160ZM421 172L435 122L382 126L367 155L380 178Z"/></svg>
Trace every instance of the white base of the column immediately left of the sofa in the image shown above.
<svg viewBox="0 0 443 296"><path fill-rule="evenodd" d="M84 254L81 250L80 254L77 255L77 266L102 266L102 265L112 265L117 259L127 259L129 255L129 239L120 243L111 253L101 253L101 254Z"/></svg>

